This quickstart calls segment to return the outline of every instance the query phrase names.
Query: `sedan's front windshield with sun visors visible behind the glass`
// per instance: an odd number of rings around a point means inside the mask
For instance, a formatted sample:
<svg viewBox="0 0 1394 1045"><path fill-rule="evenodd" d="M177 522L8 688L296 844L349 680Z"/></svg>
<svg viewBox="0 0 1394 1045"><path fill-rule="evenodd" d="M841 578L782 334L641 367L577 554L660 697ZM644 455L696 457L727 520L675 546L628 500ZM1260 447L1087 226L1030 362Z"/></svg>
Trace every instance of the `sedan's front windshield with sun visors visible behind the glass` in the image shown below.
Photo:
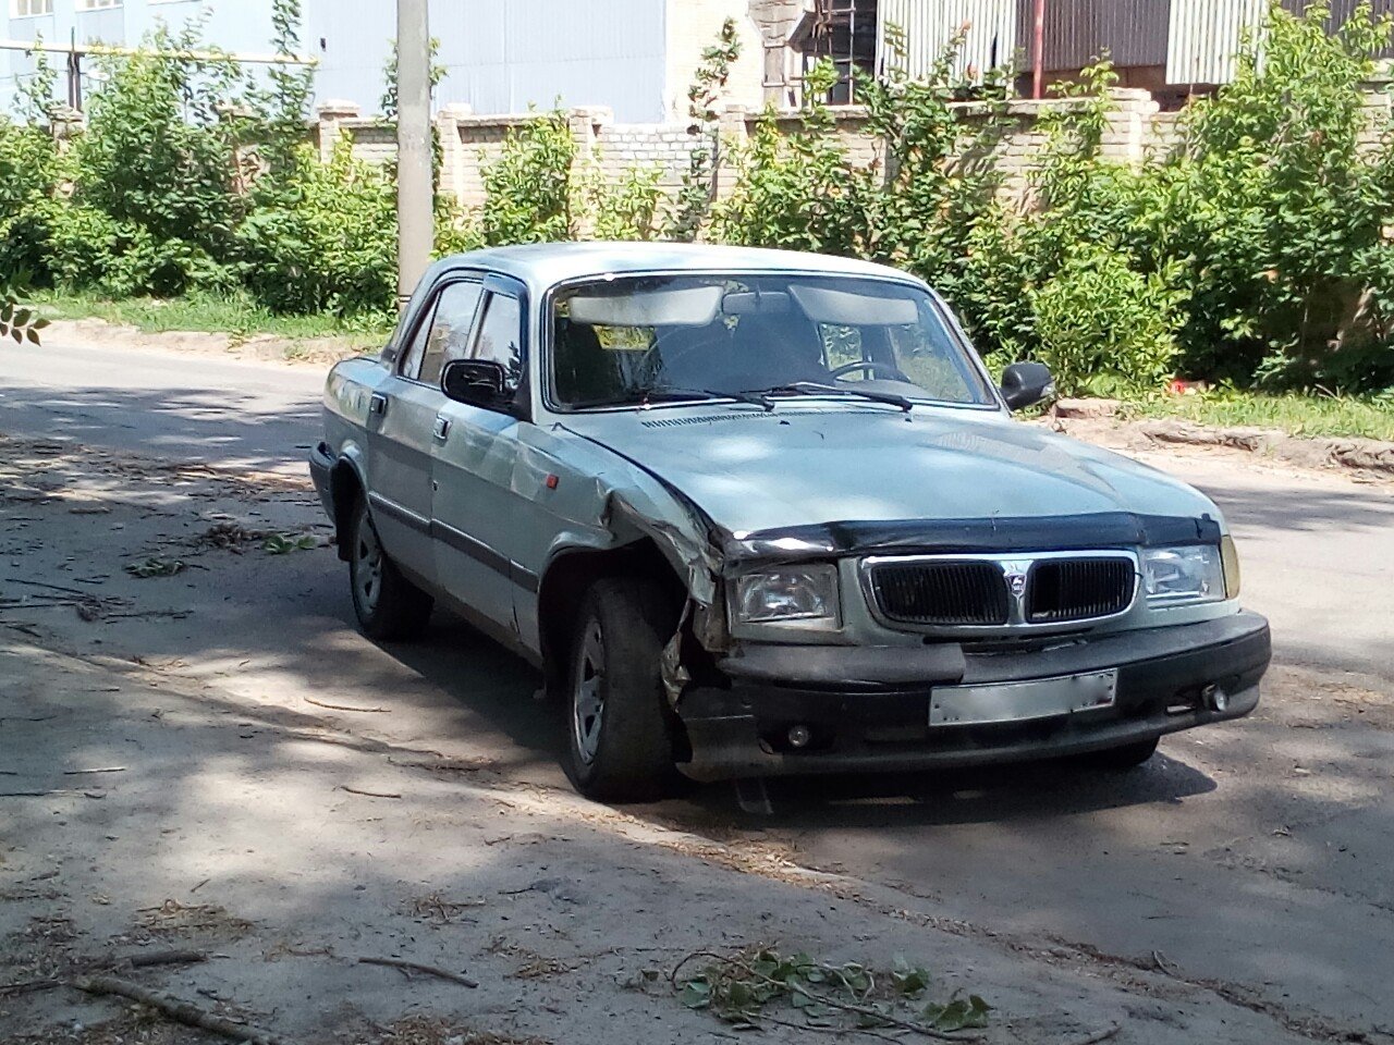
<svg viewBox="0 0 1394 1045"><path fill-rule="evenodd" d="M994 405L923 290L855 277L640 276L560 291L552 394L581 410L845 394Z"/></svg>

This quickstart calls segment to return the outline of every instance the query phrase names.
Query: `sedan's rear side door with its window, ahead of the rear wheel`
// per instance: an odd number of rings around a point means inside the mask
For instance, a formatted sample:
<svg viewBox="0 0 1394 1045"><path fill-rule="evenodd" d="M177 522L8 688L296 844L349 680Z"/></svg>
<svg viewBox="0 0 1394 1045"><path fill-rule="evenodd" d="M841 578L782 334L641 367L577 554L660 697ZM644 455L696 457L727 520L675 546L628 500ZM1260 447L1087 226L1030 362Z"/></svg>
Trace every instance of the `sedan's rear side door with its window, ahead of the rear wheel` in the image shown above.
<svg viewBox="0 0 1394 1045"><path fill-rule="evenodd" d="M408 332L393 376L369 403L372 520L393 562L427 584L436 580L431 546L431 432L446 401L441 368L452 353L464 351L481 294L477 279L442 280Z"/></svg>

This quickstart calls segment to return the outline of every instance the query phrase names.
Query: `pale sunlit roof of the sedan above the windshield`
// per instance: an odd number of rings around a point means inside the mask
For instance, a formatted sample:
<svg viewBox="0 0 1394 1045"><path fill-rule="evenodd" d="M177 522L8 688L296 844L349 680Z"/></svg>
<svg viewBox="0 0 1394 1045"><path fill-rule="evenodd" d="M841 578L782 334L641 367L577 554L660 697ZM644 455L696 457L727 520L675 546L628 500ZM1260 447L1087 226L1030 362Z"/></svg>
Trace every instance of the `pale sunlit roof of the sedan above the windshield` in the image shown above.
<svg viewBox="0 0 1394 1045"><path fill-rule="evenodd" d="M545 242L519 247L489 247L443 258L432 268L435 279L445 272L475 269L498 272L521 280L533 291L587 276L644 272L799 272L825 276L870 276L902 283L923 283L887 265L834 258L802 251L771 251L760 247L719 247L680 242Z"/></svg>

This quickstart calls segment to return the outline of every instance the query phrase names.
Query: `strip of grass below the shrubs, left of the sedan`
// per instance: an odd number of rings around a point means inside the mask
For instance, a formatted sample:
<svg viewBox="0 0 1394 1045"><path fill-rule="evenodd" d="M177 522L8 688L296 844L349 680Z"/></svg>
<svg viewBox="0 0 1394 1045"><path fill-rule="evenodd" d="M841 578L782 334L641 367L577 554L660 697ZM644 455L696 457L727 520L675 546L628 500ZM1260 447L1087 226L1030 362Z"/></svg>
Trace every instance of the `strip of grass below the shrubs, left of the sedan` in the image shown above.
<svg viewBox="0 0 1394 1045"><path fill-rule="evenodd" d="M268 312L245 294L190 294L178 298L125 298L110 301L89 293L33 291L28 294L45 319L102 319L134 326L146 333L197 330L226 333L236 339L272 334L287 340L342 339L353 347L381 347L392 333L389 316L316 314L280 316Z"/></svg>

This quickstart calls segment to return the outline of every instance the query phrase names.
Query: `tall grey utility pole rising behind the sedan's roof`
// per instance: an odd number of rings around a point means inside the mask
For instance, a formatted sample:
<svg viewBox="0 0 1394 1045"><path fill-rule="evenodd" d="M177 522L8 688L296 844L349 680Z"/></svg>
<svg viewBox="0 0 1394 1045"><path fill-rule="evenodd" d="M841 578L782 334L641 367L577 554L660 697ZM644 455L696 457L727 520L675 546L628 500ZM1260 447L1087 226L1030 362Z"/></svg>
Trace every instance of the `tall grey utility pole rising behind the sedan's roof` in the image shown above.
<svg viewBox="0 0 1394 1045"><path fill-rule="evenodd" d="M431 265L431 28L427 0L397 0L397 297Z"/></svg>

